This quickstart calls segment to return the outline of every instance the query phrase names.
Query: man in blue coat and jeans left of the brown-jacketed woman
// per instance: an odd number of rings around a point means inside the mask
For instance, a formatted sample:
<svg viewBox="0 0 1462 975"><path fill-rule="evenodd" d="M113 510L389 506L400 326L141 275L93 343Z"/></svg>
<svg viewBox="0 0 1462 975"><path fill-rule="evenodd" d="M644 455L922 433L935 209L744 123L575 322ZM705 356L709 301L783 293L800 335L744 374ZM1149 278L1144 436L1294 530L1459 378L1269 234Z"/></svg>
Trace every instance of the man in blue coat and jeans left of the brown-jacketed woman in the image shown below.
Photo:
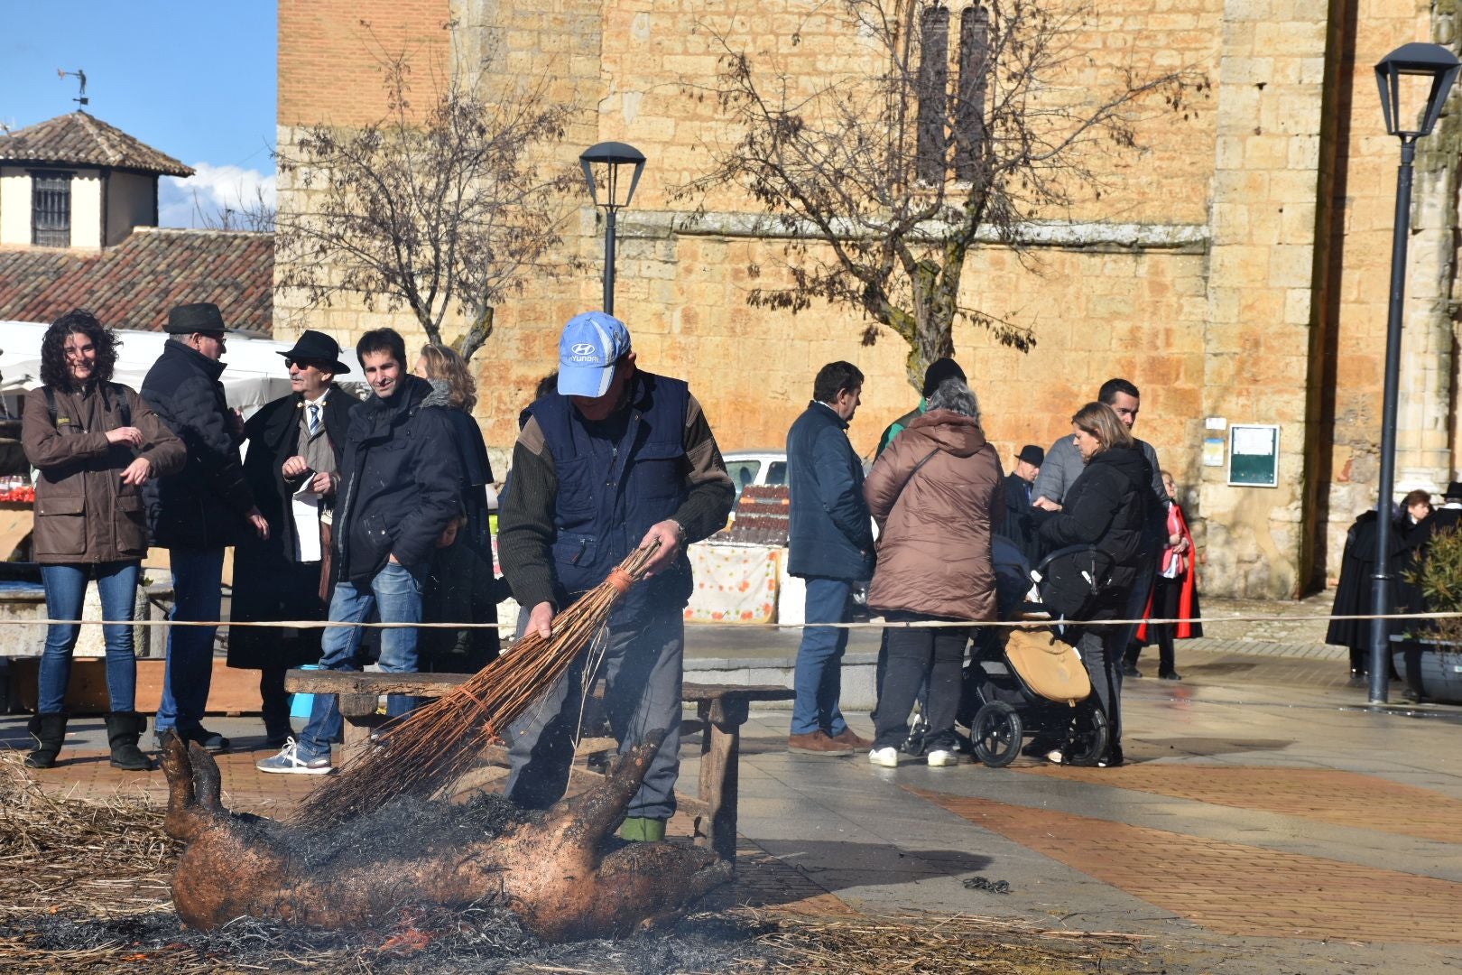
<svg viewBox="0 0 1462 975"><path fill-rule="evenodd" d="M792 678L792 728L787 747L810 754L852 754L873 743L854 734L838 707L854 582L873 577L873 522L863 500L863 462L848 443L863 373L827 363L813 383L813 402L787 431L791 485L788 572L807 580L807 614Z"/></svg>

